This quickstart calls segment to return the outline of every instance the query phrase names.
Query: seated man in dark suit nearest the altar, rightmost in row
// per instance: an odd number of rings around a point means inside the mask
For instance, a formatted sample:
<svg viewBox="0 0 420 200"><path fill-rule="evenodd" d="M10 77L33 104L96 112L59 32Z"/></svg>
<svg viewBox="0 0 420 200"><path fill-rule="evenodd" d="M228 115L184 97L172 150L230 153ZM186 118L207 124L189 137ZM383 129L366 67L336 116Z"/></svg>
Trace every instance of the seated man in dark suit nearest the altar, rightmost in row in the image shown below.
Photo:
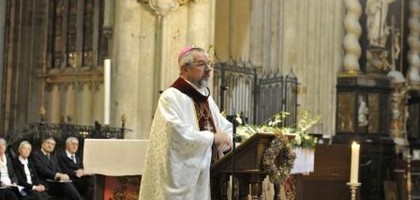
<svg viewBox="0 0 420 200"><path fill-rule="evenodd" d="M93 199L93 176L85 174L83 171L82 159L76 155L79 149L79 140L75 137L69 137L66 140L66 150L57 154L58 164L63 172L70 176L73 184L76 186L84 199Z"/></svg>

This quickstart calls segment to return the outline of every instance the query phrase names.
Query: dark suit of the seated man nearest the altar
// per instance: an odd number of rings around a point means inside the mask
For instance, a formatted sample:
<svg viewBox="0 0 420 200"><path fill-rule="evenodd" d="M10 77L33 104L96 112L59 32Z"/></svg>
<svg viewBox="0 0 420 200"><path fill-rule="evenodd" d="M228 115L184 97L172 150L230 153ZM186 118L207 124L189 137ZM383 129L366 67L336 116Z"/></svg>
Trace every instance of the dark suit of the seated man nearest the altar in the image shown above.
<svg viewBox="0 0 420 200"><path fill-rule="evenodd" d="M92 200L93 199L93 176L76 176L76 170L83 169L82 159L75 155L76 162L69 158L66 154L66 151L57 153L58 164L64 173L70 176L70 179L73 181L77 190L80 194L83 195L84 199Z"/></svg>

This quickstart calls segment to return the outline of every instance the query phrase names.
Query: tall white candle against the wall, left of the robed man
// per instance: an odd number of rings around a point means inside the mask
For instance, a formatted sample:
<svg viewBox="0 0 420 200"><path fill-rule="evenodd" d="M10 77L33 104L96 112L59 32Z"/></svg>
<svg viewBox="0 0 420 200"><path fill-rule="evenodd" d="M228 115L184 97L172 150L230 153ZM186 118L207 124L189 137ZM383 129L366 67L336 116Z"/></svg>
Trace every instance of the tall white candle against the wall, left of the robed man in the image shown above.
<svg viewBox="0 0 420 200"><path fill-rule="evenodd" d="M104 125L109 125L111 113L111 59L104 60Z"/></svg>

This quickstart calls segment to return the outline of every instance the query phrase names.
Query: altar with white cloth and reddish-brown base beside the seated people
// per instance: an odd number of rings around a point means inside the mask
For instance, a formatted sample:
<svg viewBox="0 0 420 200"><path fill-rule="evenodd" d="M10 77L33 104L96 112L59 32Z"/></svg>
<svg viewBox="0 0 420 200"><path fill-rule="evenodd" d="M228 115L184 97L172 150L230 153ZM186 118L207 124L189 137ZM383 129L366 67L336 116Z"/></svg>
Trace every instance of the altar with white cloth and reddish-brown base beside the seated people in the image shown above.
<svg viewBox="0 0 420 200"><path fill-rule="evenodd" d="M86 139L83 162L95 199L137 199L148 140Z"/></svg>

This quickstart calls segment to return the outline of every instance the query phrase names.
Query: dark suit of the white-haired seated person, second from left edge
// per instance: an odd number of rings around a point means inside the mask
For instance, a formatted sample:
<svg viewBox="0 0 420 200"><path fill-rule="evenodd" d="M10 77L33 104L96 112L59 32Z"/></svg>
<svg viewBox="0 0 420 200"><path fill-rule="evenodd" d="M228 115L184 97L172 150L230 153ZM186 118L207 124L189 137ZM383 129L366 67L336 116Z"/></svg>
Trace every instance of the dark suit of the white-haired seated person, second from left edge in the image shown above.
<svg viewBox="0 0 420 200"><path fill-rule="evenodd" d="M14 160L14 166L15 166L15 172L16 172L16 176L19 182L19 185L25 187L25 192L28 193L28 196L26 199L39 199L39 200L43 200L43 199L48 199L49 196L46 192L37 192L37 191L33 191L32 188L33 186L39 185L39 184L43 184L41 183L37 173L36 173L36 169L35 169L35 165L33 164L33 161L28 159L28 169L29 169L29 173L31 176L31 183L28 183L28 179L26 177L26 173L25 173L25 165L22 164L19 160L19 158L17 157ZM44 184L43 184L44 185Z"/></svg>

